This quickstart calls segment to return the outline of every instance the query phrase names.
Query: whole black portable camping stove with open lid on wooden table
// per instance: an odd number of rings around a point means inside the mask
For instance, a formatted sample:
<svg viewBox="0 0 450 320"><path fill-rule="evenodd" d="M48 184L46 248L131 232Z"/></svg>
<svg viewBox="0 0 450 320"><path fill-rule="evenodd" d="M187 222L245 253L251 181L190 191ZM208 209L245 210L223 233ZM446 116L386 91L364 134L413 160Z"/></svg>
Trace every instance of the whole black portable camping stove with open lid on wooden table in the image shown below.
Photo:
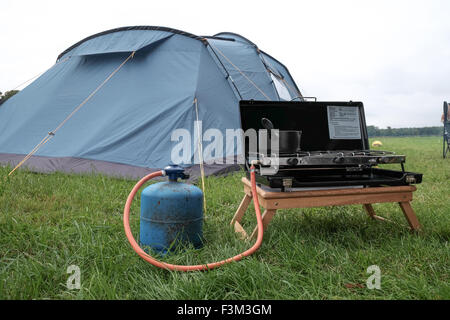
<svg viewBox="0 0 450 320"><path fill-rule="evenodd" d="M258 132L258 148L244 139L246 169L257 160L257 182L288 191L295 188L398 186L421 183L422 174L405 171L406 157L370 150L361 102L241 101L244 131ZM260 119L279 130L300 130L300 150L274 152ZM397 164L400 170L379 168ZM384 166L383 166L384 167Z"/></svg>

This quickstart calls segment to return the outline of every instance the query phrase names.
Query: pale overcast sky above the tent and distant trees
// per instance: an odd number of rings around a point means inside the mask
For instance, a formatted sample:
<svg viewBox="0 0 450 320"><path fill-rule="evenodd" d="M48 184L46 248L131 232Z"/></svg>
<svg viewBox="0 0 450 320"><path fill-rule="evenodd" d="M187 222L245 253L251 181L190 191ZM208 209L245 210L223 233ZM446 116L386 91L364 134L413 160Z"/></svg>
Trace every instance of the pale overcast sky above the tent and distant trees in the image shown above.
<svg viewBox="0 0 450 320"><path fill-rule="evenodd" d="M450 1L0 0L0 91L104 30L243 35L285 64L304 96L365 105L379 127L441 125L450 100Z"/></svg>

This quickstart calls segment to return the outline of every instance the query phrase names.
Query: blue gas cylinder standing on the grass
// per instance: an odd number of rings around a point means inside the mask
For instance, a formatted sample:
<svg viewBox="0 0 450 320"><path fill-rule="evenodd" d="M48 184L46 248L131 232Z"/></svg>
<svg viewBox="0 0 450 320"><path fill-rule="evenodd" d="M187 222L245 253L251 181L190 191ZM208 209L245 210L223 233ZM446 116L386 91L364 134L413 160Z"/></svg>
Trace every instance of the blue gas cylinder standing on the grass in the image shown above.
<svg viewBox="0 0 450 320"><path fill-rule="evenodd" d="M164 169L168 181L145 188L141 194L140 242L155 251L167 252L177 244L202 246L203 193L194 185L179 182L184 169Z"/></svg>

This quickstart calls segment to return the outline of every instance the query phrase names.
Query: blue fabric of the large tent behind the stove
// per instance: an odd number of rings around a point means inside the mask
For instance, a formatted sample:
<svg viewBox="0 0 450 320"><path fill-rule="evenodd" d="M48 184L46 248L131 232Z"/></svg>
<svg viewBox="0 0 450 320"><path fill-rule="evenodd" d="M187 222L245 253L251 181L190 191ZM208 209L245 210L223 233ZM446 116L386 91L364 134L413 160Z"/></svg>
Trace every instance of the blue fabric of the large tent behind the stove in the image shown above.
<svg viewBox="0 0 450 320"><path fill-rule="evenodd" d="M15 165L130 54L129 60L25 166L137 178L171 163L175 129L195 136L240 128L239 100L279 100L262 58L297 88L287 68L235 34L199 37L162 27L126 27L88 37L0 107L0 163ZM220 52L218 52L220 51ZM252 82L246 78L248 77ZM298 90L298 89L297 89ZM264 92L265 95L261 93ZM293 93L291 93L292 95ZM194 104L197 99L197 110ZM204 143L205 145L205 143ZM224 157L240 154L224 146ZM192 167L198 144L192 141ZM215 155L206 155L211 162ZM206 165L207 173L236 166Z"/></svg>

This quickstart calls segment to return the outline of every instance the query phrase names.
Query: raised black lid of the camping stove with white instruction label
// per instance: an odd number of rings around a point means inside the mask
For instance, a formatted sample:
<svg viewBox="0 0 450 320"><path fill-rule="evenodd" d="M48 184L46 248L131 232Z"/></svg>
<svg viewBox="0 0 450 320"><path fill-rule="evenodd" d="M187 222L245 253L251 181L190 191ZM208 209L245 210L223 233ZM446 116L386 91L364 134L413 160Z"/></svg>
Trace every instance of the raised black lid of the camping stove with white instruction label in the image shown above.
<svg viewBox="0 0 450 320"><path fill-rule="evenodd" d="M362 102L241 100L239 108L244 132L264 129L261 119L266 118L275 129L302 131L302 151L370 148ZM244 145L248 158L248 139Z"/></svg>

